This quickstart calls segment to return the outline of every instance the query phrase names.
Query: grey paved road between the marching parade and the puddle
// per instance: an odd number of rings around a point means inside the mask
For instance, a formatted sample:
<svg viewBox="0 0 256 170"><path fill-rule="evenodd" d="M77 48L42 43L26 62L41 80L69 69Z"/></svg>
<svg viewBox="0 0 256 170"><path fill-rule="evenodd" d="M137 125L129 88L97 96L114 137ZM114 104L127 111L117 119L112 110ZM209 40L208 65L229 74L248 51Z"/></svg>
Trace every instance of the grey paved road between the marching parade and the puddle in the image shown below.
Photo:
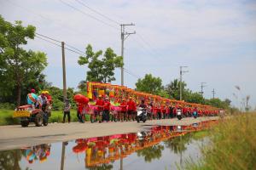
<svg viewBox="0 0 256 170"><path fill-rule="evenodd" d="M54 143L79 138L105 136L116 133L137 133L156 125L189 125L195 122L216 120L218 117L199 117L154 120L137 122L103 122L103 123L49 123L47 127L1 126L0 150L10 150L36 144Z"/></svg>

